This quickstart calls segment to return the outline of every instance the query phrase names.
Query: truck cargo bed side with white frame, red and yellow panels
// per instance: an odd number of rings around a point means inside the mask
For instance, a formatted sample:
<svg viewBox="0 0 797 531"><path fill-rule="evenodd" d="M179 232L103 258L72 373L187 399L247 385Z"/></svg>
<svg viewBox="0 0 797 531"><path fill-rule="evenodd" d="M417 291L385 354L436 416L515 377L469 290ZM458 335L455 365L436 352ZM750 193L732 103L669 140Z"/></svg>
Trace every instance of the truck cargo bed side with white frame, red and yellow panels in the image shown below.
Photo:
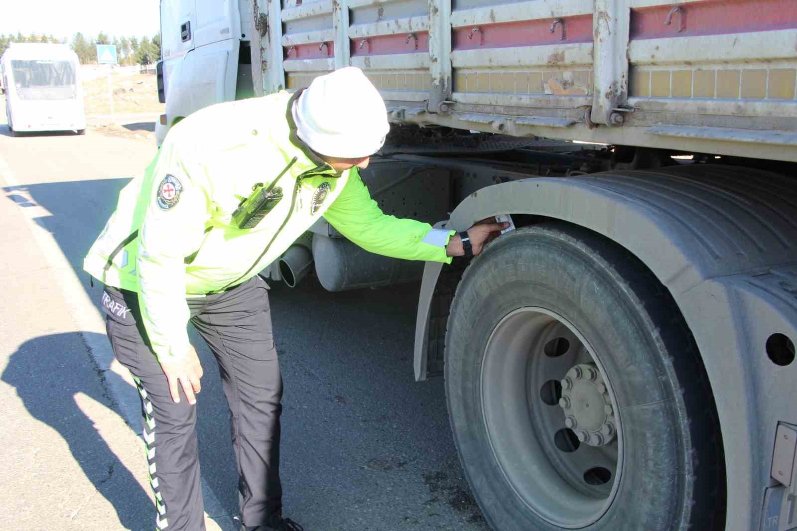
<svg viewBox="0 0 797 531"><path fill-rule="evenodd" d="M792 0L257 0L254 10L265 92L354 65L395 123L797 161Z"/></svg>

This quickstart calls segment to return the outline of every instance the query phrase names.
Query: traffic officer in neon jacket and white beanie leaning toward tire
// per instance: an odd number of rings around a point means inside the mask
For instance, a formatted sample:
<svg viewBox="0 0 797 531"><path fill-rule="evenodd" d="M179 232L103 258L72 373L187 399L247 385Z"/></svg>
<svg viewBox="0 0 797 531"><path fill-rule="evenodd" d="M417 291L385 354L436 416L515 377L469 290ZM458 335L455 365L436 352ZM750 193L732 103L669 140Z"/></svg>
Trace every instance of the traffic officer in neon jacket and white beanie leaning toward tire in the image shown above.
<svg viewBox="0 0 797 531"><path fill-rule="evenodd" d="M282 379L257 273L320 216L373 253L437 262L477 254L503 228L480 224L462 238L383 214L358 168L388 128L379 92L348 67L293 95L194 112L120 192L84 269L105 285L108 338L141 396L159 529L205 529L194 407L202 367L188 321L218 360L230 407L241 529L301 529L281 514Z"/></svg>

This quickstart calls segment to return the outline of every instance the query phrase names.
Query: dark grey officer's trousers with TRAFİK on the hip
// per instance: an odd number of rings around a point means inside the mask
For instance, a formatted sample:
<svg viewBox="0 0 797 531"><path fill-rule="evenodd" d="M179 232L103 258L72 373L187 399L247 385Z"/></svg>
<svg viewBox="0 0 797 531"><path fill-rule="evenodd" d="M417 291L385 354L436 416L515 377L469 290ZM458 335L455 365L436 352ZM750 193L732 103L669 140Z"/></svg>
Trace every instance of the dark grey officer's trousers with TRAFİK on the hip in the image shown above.
<svg viewBox="0 0 797 531"><path fill-rule="evenodd" d="M251 526L266 523L282 506L282 377L267 289L255 276L224 293L188 299L190 321L216 357L222 376L238 463L241 519ZM169 531L203 530L196 406L182 389L180 402L172 401L141 324L136 293L106 286L102 305L116 359L130 369L141 395L155 523Z"/></svg>

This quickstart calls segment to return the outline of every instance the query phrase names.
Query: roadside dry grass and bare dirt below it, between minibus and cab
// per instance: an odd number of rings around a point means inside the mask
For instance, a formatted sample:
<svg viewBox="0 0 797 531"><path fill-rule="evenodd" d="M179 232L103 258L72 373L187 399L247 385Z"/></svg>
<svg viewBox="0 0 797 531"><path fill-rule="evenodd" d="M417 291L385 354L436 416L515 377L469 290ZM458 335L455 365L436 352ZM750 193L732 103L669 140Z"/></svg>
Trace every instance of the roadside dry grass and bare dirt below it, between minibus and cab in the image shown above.
<svg viewBox="0 0 797 531"><path fill-rule="evenodd" d="M152 74L111 76L113 93L113 111L117 121L92 120L92 116L110 115L111 104L108 101L108 77L97 77L83 82L83 99L88 128L93 132L109 136L121 136L133 140L155 142L155 122L141 121L128 123L120 120L124 115L159 115L165 112L166 105L158 101L157 79ZM149 119L151 120L151 119Z"/></svg>

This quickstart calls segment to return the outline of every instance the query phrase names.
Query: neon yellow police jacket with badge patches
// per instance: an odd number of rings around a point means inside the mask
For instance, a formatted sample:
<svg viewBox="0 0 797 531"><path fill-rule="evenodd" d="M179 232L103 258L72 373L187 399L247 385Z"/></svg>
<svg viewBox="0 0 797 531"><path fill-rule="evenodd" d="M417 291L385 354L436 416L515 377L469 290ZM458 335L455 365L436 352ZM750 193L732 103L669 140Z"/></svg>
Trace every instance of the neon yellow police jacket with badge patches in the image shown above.
<svg viewBox="0 0 797 531"><path fill-rule="evenodd" d="M176 124L143 175L120 192L88 251L83 267L92 277L138 293L156 356L188 352L186 297L247 281L322 215L372 253L451 261L445 245L453 231L424 242L429 224L383 214L356 167L336 173L296 136L296 96L216 104ZM238 228L232 214L241 198L275 180L283 198L257 226Z"/></svg>

